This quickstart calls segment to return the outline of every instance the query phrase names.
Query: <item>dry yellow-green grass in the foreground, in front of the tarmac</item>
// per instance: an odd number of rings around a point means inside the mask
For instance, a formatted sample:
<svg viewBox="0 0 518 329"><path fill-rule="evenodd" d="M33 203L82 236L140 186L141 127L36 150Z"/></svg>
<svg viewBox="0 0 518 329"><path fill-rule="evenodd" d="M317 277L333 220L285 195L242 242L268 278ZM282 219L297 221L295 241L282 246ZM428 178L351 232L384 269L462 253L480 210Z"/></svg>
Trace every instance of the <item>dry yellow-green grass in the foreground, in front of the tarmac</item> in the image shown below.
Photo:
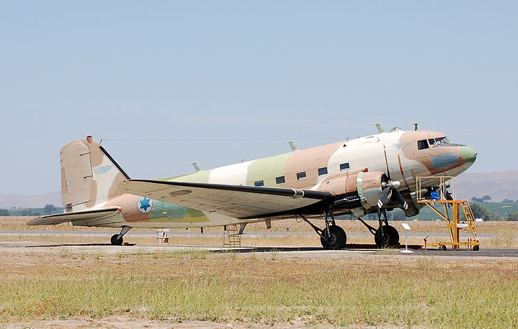
<svg viewBox="0 0 518 329"><path fill-rule="evenodd" d="M0 322L129 314L162 321L302 319L309 326L518 326L515 262L280 254L3 252Z"/></svg>

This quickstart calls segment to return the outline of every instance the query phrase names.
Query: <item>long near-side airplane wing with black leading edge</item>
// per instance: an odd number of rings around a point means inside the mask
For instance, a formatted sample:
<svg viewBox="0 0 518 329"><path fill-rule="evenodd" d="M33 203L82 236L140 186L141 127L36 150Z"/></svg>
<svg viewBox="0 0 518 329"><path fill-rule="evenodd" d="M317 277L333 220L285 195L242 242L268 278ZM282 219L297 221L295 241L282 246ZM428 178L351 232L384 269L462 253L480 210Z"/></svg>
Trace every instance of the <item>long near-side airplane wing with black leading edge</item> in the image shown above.
<svg viewBox="0 0 518 329"><path fill-rule="evenodd" d="M129 194L241 219L293 213L334 197L327 191L162 180L125 180L117 187Z"/></svg>

